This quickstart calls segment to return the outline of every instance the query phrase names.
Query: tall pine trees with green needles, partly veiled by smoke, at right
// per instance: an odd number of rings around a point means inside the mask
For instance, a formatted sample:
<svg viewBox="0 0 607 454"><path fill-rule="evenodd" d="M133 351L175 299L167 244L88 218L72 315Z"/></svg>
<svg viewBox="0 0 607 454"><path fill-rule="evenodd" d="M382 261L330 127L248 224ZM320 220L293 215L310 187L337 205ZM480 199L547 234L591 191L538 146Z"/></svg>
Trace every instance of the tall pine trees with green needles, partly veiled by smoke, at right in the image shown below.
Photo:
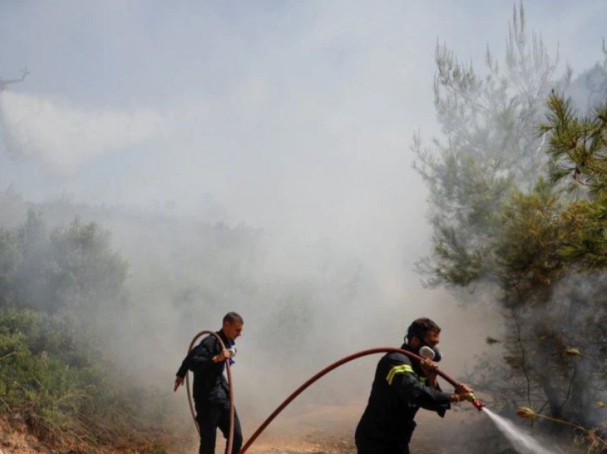
<svg viewBox="0 0 607 454"><path fill-rule="evenodd" d="M607 71L597 65L572 81L568 70L556 81L541 39L528 39L522 6L507 43L503 67L487 54L484 78L437 48L445 138L413 144L435 241L420 269L431 285L501 309L503 333L488 338L503 348L501 361L488 355L475 374L493 405L558 419L573 428L561 433L599 452L607 447ZM575 84L588 111L567 97Z"/></svg>

